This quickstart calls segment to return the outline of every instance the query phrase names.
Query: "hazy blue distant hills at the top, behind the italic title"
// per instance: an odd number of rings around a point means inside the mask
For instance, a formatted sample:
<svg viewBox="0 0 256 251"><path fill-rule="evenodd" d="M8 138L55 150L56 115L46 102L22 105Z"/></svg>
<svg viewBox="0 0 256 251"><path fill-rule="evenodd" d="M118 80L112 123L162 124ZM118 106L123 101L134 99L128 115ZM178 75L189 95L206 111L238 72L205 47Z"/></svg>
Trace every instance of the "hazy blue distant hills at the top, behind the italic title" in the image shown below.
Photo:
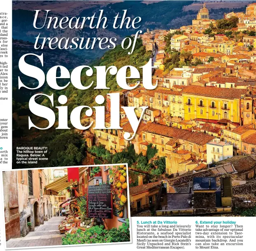
<svg viewBox="0 0 256 251"><path fill-rule="evenodd" d="M223 18L224 12L230 11L245 11L247 1L242 1L238 5L237 1L230 1L228 7L219 2L211 5L209 14L212 19ZM198 6L197 6L198 5ZM208 3L207 3L208 6ZM221 6L221 8L219 8ZM63 16L92 16L99 12L99 9L103 9L105 16L109 21L107 29L91 30L88 27L82 30L70 30L65 29L40 29L33 28L34 9L51 9L51 14L57 17ZM58 9L58 11L57 11ZM44 2L41 6L35 1L28 4L21 5L15 2L13 7L13 38L18 40L25 40L35 42L35 37L41 33L44 37L116 37L116 44L120 44L121 39L128 35L135 33L135 30L126 29L114 29L112 23L114 22L114 16L119 12L123 13L123 9L127 9L127 16L132 18L140 16L142 18L140 29L144 32L147 28L150 29L170 29L179 28L183 25L190 25L191 19L196 17L199 4L191 1L150 1L150 4L146 4L143 1L99 1L97 4L91 1L86 1L86 4L82 4L80 1L70 1L69 5L65 1L63 2ZM40 16L40 24L44 21L44 15ZM71 53L76 53L79 56L83 56L86 60L94 60L101 57L106 50L100 50L97 47L91 53L90 50L73 50Z"/></svg>

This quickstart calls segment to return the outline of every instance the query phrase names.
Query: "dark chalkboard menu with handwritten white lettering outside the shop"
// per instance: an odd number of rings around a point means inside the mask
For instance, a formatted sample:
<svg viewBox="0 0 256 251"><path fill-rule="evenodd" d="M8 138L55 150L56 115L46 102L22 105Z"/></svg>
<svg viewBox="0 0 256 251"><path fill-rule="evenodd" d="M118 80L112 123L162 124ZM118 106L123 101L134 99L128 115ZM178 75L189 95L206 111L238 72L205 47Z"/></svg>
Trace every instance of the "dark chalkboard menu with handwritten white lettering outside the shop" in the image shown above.
<svg viewBox="0 0 256 251"><path fill-rule="evenodd" d="M89 218L113 218L110 184L88 186L87 215Z"/></svg>

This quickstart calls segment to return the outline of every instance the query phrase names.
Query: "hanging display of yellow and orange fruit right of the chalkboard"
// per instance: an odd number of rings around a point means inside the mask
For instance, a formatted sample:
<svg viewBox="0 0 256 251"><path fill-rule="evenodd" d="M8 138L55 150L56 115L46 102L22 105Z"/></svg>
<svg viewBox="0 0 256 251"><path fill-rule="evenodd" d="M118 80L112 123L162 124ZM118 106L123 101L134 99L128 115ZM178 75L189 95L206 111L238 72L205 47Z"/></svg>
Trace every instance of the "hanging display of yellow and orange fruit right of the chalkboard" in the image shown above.
<svg viewBox="0 0 256 251"><path fill-rule="evenodd" d="M113 214L120 218L123 217L124 205L127 201L126 198L126 166L114 166L109 174L109 183L112 184L113 195Z"/></svg>

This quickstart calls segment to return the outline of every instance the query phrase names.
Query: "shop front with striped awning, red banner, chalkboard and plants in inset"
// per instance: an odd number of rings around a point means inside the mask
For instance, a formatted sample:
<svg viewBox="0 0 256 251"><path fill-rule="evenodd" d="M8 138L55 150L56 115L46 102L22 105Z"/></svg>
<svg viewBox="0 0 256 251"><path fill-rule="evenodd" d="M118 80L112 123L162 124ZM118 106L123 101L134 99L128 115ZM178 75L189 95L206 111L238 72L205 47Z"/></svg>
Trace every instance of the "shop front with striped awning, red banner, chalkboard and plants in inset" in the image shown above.
<svg viewBox="0 0 256 251"><path fill-rule="evenodd" d="M120 242L120 231L124 233L121 241L129 242L126 166L70 167L67 171L44 187L49 195L64 189L70 193L59 205L59 216L65 216L58 227L63 244L113 242L113 233L114 242Z"/></svg>

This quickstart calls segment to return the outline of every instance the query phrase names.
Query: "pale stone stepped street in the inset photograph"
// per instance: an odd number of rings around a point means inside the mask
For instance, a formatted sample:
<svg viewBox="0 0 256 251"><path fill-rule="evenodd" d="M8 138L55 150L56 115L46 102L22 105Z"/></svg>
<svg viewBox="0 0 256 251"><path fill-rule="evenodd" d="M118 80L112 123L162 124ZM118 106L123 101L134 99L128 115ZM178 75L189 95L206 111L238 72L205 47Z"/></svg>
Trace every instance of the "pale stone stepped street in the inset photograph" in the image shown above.
<svg viewBox="0 0 256 251"><path fill-rule="evenodd" d="M64 216L52 217L45 221L43 225L36 227L34 232L29 232L26 237L9 239L7 248L27 247L27 246L56 246L62 245L62 237L58 230L58 225L64 220Z"/></svg>

